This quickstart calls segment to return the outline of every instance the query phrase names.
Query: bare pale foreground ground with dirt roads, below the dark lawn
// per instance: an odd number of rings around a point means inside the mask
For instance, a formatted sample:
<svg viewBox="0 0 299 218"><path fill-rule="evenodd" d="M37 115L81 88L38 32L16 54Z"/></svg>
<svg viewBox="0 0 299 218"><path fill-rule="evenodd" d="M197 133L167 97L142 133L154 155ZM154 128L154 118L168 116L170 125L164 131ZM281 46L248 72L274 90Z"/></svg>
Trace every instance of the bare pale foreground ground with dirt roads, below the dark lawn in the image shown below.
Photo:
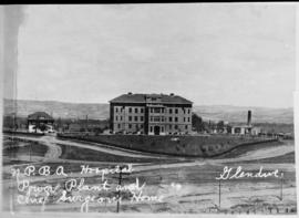
<svg viewBox="0 0 299 218"><path fill-rule="evenodd" d="M296 206L296 170L293 142L280 142L241 146L217 158L181 158L148 155L146 153L127 153L111 150L110 147L93 146L69 141L42 137L38 141L11 142L4 138L3 147L3 196L6 210L41 211L41 205L20 205L16 197L18 190L11 178L11 168L21 170L28 165L51 166L51 175L59 166L64 166L70 178L82 178L81 165L111 168L120 164L133 164L133 172L123 175L122 184L130 185L136 178L146 183L144 195L163 196L161 203L131 203L130 195L121 193L124 200L120 205L121 212L174 212L174 214L295 214ZM30 148L31 147L31 148ZM32 149L31 152L29 149ZM51 158L48 158L48 157ZM227 179L220 183L215 178L224 167L234 170L241 166L246 172L257 173L260 167L265 172L278 169L281 178L241 178ZM86 184L95 185L99 176L89 175ZM66 178L58 176L32 176L32 185L63 184ZM112 184L118 183L118 175L110 175ZM282 189L281 189L282 187ZM282 190L282 191L281 191ZM76 191L70 193L75 196ZM85 193L87 195L87 193ZM104 194L101 194L104 196ZM105 194L116 195L116 194ZM282 198L281 198L282 197ZM55 199L54 196L52 196ZM80 203L60 203L52 199L43 207L43 211L80 211ZM90 204L89 211L116 212L117 204Z"/></svg>

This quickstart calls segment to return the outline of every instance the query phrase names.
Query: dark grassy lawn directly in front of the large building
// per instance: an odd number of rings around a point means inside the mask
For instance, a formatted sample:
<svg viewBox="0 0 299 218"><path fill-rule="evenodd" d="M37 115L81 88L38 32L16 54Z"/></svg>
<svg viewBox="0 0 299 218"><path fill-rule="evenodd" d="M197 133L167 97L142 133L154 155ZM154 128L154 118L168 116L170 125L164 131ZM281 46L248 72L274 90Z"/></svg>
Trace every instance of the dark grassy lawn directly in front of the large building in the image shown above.
<svg viewBox="0 0 299 218"><path fill-rule="evenodd" d="M148 135L59 135L60 138L80 139L148 152L188 157L214 157L234 149L240 145L255 145L274 142L271 138L246 137L233 135L200 135L200 136L148 136Z"/></svg>

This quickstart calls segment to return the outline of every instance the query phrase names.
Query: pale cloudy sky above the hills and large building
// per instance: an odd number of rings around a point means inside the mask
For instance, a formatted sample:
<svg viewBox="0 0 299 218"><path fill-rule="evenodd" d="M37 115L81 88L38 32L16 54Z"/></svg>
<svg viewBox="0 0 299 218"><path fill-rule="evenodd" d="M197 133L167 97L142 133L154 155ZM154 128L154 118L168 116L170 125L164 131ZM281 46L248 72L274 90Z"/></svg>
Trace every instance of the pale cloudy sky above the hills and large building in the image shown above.
<svg viewBox="0 0 299 218"><path fill-rule="evenodd" d="M196 105L291 107L293 6L27 6L17 98L107 103L175 93ZM21 19L20 19L21 18Z"/></svg>

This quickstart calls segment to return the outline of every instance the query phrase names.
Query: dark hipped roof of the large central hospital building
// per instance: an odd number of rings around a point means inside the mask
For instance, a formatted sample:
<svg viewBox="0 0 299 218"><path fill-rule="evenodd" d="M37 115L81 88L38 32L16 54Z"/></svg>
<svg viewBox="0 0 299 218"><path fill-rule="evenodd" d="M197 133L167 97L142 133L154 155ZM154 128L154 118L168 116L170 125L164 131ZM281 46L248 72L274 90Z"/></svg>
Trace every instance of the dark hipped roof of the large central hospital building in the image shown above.
<svg viewBox="0 0 299 218"><path fill-rule="evenodd" d="M147 103L146 98L158 98L158 103L163 104L192 104L193 102L179 96L166 94L123 94L110 101L110 103Z"/></svg>

